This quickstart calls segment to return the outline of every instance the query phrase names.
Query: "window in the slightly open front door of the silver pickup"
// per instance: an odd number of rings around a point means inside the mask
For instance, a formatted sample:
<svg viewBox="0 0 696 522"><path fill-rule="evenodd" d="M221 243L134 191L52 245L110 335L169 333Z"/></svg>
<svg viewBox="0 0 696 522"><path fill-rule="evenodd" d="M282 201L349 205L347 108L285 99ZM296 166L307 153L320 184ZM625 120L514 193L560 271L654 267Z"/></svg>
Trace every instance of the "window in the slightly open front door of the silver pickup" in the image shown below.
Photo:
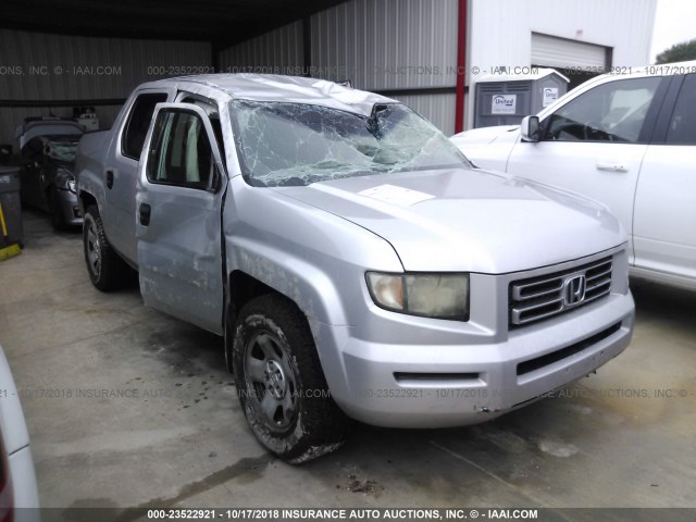
<svg viewBox="0 0 696 522"><path fill-rule="evenodd" d="M148 151L150 183L204 189L213 164L201 119L185 111L160 111Z"/></svg>

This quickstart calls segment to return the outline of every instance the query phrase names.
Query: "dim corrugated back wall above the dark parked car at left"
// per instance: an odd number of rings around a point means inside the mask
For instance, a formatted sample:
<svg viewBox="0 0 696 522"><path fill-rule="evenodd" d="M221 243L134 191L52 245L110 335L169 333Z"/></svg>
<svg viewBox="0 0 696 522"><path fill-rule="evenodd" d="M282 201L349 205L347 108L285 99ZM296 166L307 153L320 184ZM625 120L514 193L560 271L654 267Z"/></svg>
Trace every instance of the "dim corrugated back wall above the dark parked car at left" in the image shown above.
<svg viewBox="0 0 696 522"><path fill-rule="evenodd" d="M0 29L0 142L16 147L14 130L25 116L72 115L73 101L124 100L142 82L211 71L209 42ZM65 100L67 107L40 104ZM101 126L109 127L119 110L97 107Z"/></svg>

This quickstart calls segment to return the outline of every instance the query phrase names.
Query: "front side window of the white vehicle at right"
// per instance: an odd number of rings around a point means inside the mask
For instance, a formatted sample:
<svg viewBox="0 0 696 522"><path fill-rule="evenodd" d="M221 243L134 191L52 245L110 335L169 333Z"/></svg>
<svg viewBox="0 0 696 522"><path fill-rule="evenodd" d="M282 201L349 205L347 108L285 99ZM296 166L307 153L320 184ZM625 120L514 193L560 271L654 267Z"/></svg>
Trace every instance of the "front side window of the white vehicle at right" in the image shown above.
<svg viewBox="0 0 696 522"><path fill-rule="evenodd" d="M581 95L545 123L545 140L639 140L660 77L609 82Z"/></svg>

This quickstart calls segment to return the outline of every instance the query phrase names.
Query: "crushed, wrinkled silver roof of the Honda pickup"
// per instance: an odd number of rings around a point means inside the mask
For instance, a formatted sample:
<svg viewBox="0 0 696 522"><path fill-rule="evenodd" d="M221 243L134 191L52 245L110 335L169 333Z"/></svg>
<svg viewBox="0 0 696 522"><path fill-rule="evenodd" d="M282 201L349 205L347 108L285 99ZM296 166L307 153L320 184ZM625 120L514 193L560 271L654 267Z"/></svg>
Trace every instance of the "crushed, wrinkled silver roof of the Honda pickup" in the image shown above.
<svg viewBox="0 0 696 522"><path fill-rule="evenodd" d="M162 83L202 84L220 89L233 98L325 105L370 115L375 103L398 103L374 92L353 89L326 79L273 74L207 74L163 79Z"/></svg>

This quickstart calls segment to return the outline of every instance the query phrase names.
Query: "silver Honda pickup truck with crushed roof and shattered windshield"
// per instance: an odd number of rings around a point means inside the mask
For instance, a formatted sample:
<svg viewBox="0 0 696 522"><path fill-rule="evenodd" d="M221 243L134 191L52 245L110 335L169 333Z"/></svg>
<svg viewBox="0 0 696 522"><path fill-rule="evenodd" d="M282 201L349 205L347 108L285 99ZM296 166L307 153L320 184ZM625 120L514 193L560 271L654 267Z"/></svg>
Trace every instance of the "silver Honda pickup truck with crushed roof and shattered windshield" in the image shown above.
<svg viewBox="0 0 696 522"><path fill-rule="evenodd" d="M313 78L144 84L77 159L89 276L225 337L259 440L493 419L629 344L605 207L473 169L406 105Z"/></svg>

